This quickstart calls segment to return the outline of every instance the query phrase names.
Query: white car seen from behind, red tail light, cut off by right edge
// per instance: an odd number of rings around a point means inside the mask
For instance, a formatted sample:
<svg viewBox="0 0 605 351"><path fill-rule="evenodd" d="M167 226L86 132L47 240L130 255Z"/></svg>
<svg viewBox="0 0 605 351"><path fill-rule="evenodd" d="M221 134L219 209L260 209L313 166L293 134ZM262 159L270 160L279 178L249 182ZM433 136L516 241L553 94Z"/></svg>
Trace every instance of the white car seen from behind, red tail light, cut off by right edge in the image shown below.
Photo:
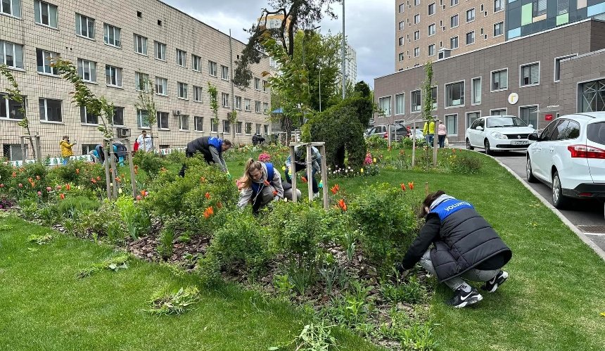
<svg viewBox="0 0 605 351"><path fill-rule="evenodd" d="M605 112L564 115L531 134L527 180L552 186L552 204L570 198L605 199Z"/></svg>

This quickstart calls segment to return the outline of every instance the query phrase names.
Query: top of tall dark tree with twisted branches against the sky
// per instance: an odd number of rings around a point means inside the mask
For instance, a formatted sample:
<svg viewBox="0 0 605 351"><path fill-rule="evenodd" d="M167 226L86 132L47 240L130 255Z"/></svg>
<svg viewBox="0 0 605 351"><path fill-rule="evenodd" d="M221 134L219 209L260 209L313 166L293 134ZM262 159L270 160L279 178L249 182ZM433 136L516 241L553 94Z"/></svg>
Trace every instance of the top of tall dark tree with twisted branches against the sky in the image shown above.
<svg viewBox="0 0 605 351"><path fill-rule="evenodd" d="M336 18L332 11L332 4L339 4L341 0L269 0L273 10L263 8L258 22L250 27L250 38L243 49L240 58L235 61L236 70L233 79L238 87L249 87L252 79L250 65L259 63L263 56L263 36L267 30L267 16L283 15L281 26L269 30L272 37L279 40L284 52L291 58L294 56L294 36L296 28L311 28L318 23L324 15ZM286 40L286 37L288 38Z"/></svg>

